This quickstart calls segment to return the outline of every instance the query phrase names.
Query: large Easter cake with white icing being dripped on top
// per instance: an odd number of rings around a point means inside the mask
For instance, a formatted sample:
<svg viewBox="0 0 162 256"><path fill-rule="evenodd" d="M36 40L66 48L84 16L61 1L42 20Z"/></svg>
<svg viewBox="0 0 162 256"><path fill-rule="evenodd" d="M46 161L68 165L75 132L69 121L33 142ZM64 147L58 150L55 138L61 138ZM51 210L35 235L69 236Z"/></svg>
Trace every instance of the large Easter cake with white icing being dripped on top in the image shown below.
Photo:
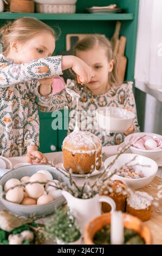
<svg viewBox="0 0 162 256"><path fill-rule="evenodd" d="M86 174L101 167L101 141L93 133L73 131L63 141L63 167Z"/></svg>

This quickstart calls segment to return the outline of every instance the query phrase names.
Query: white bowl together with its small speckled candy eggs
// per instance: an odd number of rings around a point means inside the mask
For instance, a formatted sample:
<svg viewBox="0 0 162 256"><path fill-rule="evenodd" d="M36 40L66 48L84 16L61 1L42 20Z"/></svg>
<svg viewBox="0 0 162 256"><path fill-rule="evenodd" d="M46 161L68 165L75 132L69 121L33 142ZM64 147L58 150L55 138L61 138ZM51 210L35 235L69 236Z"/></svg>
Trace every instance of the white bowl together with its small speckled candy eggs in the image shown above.
<svg viewBox="0 0 162 256"><path fill-rule="evenodd" d="M150 184L158 172L158 164L145 156L136 154L121 154L111 167L108 167L115 156L105 160L107 173L114 173L112 180L121 180L132 190L137 190Z"/></svg>

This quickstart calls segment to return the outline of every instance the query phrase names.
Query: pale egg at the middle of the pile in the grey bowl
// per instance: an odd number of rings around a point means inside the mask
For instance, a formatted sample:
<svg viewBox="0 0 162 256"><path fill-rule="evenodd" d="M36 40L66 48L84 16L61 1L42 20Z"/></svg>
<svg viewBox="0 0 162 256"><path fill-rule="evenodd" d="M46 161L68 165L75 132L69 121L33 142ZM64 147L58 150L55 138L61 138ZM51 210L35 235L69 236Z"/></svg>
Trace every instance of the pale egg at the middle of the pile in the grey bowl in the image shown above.
<svg viewBox="0 0 162 256"><path fill-rule="evenodd" d="M42 184L28 184L25 186L25 192L29 197L37 199L44 193L44 187Z"/></svg>

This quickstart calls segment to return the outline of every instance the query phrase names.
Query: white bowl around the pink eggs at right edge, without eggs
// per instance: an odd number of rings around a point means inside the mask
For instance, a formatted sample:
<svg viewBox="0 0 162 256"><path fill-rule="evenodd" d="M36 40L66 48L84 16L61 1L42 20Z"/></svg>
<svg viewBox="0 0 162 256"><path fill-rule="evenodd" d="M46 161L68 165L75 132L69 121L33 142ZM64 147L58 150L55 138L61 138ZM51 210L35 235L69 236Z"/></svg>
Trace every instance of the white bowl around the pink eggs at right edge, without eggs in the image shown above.
<svg viewBox="0 0 162 256"><path fill-rule="evenodd" d="M158 135L156 133L149 133L149 132L137 132L137 133L133 133L133 136L134 135L137 135L137 137L142 137L144 135L147 135L147 136L151 136L151 137L154 137L154 138L162 138L161 135ZM130 143L130 139L131 139L132 135L128 135L125 137L125 144L129 144ZM131 150L131 153L133 154L138 154L138 155L142 155L142 156L146 156L146 157L149 157L153 160L156 160L158 158L162 158L162 149L152 149L152 150L143 150L143 149L137 149L137 148L134 148L134 147L130 147L129 148Z"/></svg>

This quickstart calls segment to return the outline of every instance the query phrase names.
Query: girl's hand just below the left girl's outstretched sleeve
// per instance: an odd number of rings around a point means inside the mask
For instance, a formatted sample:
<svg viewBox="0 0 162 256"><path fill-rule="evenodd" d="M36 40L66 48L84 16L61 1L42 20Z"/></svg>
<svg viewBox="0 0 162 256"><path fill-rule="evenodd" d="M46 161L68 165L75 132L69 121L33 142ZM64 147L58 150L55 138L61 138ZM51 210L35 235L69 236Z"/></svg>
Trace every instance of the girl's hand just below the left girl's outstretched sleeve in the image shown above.
<svg viewBox="0 0 162 256"><path fill-rule="evenodd" d="M40 82L39 93L41 96L47 96L51 93L51 85L53 84L53 80L53 77L38 80Z"/></svg>

